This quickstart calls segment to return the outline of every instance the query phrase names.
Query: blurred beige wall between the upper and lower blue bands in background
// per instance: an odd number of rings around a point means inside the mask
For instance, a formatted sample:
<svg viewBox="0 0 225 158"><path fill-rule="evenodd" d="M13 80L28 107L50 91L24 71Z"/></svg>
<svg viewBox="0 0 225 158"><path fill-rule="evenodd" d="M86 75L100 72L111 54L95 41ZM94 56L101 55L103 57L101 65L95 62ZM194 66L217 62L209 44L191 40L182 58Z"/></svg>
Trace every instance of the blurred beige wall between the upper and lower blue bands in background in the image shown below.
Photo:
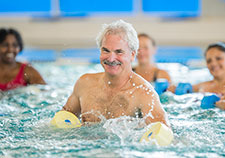
<svg viewBox="0 0 225 158"><path fill-rule="evenodd" d="M137 32L150 34L158 45L205 48L211 42L225 41L224 0L202 0L201 15L196 17L156 17L141 10L140 0L134 2L135 12L125 14L59 17L54 12L51 18L0 14L0 27L19 30L26 47L58 50L96 47L101 25L118 19L132 23Z"/></svg>

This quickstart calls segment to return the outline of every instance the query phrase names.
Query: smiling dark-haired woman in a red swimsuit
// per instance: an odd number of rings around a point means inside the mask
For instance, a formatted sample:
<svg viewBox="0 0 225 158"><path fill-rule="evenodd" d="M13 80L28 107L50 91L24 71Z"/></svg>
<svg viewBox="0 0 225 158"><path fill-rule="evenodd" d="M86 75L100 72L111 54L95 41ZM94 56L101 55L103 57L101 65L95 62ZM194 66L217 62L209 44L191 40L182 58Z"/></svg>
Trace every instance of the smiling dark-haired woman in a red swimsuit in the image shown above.
<svg viewBox="0 0 225 158"><path fill-rule="evenodd" d="M6 91L29 84L46 84L31 65L17 62L23 41L14 29L0 29L0 90Z"/></svg>

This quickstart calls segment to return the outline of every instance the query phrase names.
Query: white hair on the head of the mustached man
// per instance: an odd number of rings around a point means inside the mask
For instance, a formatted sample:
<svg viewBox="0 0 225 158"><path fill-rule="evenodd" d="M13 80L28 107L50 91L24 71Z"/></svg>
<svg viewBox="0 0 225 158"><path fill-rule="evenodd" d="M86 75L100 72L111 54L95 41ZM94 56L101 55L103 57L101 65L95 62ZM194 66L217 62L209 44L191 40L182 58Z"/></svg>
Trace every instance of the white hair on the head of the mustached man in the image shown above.
<svg viewBox="0 0 225 158"><path fill-rule="evenodd" d="M104 24L102 30L99 32L96 38L99 48L102 46L102 40L106 35L121 35L122 38L128 43L130 50L135 51L137 54L139 41L137 32L131 24L123 20L118 20L111 24Z"/></svg>

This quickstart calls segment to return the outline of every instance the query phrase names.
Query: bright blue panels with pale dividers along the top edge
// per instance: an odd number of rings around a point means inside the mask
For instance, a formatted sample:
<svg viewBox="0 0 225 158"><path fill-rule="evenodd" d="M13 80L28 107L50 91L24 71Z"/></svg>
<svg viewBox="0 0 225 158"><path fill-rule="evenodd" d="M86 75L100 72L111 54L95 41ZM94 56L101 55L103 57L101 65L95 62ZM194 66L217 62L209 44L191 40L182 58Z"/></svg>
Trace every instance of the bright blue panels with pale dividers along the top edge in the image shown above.
<svg viewBox="0 0 225 158"><path fill-rule="evenodd" d="M119 5L118 5L119 4ZM0 0L0 16L88 17L96 14L144 14L199 17L201 0Z"/></svg>

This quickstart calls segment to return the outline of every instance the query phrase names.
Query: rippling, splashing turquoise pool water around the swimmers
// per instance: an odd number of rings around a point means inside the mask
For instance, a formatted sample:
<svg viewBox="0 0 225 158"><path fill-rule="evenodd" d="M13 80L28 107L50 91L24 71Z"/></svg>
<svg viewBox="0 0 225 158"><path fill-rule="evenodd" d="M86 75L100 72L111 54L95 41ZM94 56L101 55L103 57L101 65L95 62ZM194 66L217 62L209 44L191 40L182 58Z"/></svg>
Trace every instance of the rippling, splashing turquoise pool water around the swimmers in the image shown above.
<svg viewBox="0 0 225 158"><path fill-rule="evenodd" d="M0 93L0 157L224 157L225 112L200 108L202 94L160 96L174 132L168 147L139 143L143 128L129 117L77 129L49 125L83 73L103 71L99 64L34 63L48 85ZM208 80L206 68L159 64L175 83ZM201 73L200 73L201 72ZM188 74L188 76L187 76ZM40 90L39 90L40 89Z"/></svg>

